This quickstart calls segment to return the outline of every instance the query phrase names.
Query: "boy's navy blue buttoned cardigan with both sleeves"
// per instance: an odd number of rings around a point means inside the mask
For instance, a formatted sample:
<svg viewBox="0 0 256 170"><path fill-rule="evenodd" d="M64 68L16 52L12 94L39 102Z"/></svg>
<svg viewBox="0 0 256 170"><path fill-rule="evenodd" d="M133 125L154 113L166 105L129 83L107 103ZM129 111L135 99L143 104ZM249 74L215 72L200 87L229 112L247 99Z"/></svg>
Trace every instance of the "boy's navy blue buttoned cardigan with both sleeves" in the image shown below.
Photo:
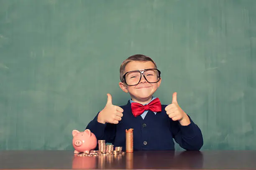
<svg viewBox="0 0 256 170"><path fill-rule="evenodd" d="M185 150L200 150L203 145L202 132L191 120L187 126L168 117L162 105L162 111L154 114L148 111L144 120L141 116L134 117L131 102L120 106L123 117L118 124L99 123L97 116L87 125L97 140L105 140L114 146L122 146L125 150L125 130L133 128L133 150L174 150L173 139ZM97 148L96 148L97 149Z"/></svg>

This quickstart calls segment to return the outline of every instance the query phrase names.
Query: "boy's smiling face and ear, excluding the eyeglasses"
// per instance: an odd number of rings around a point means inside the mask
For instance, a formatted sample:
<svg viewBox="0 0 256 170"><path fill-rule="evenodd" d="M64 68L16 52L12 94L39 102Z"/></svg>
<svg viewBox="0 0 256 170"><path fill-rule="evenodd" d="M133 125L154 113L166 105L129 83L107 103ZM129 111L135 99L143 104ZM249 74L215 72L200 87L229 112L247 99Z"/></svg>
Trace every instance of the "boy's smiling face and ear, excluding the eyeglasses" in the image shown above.
<svg viewBox="0 0 256 170"><path fill-rule="evenodd" d="M155 65L151 61L131 61L125 66L125 73L134 70L144 70L155 68ZM141 75L141 81L138 85L128 86L125 82L119 82L119 86L124 92L129 92L131 99L135 102L141 102L142 104L151 100L152 95L156 89L160 86L161 79L159 82L149 83L145 80L145 77Z"/></svg>

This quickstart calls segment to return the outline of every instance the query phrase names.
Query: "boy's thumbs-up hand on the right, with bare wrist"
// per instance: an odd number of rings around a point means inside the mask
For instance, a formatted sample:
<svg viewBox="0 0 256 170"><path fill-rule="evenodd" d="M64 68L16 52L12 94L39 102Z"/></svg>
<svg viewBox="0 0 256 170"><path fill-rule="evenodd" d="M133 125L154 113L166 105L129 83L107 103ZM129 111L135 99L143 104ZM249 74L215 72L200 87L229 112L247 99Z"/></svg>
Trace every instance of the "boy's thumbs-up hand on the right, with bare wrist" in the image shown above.
<svg viewBox="0 0 256 170"><path fill-rule="evenodd" d="M179 107L177 102L177 92L172 95L172 104L165 107L166 114L174 121L178 120L183 126L189 125L190 120L187 114Z"/></svg>

